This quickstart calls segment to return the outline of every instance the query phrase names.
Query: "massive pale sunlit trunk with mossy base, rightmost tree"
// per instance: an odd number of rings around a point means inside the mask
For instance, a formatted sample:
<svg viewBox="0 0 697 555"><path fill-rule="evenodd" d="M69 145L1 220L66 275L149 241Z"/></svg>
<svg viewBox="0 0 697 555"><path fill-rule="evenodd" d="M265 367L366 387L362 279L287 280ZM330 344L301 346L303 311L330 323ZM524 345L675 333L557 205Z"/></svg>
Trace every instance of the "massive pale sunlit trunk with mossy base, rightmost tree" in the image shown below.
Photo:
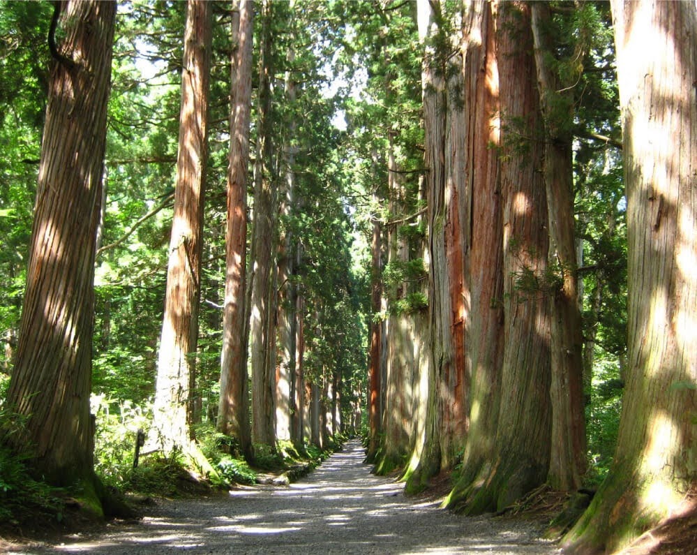
<svg viewBox="0 0 697 555"><path fill-rule="evenodd" d="M697 8L613 1L629 252L627 386L610 474L569 552L614 552L697 486Z"/></svg>

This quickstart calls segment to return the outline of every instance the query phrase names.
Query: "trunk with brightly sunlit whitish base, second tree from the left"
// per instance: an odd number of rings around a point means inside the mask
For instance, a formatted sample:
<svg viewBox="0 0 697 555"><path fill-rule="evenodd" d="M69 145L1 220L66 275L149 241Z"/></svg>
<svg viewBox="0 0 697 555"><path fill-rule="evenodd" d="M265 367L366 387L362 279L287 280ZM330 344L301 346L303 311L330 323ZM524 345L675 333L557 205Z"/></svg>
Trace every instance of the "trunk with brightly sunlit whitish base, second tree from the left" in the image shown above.
<svg viewBox="0 0 697 555"><path fill-rule="evenodd" d="M177 187L149 438L151 446L165 453L183 450L195 454L190 445L188 404L198 336L210 56L211 5L189 0L181 71Z"/></svg>

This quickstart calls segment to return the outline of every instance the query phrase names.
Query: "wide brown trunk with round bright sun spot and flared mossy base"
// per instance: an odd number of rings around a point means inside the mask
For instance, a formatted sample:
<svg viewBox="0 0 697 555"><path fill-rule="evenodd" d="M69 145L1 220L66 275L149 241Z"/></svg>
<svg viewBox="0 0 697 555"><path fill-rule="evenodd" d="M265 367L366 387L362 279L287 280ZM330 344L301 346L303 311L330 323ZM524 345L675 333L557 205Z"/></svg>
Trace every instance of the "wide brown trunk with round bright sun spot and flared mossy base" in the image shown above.
<svg viewBox="0 0 697 555"><path fill-rule="evenodd" d="M522 2L495 4L500 75L503 202L504 350L493 461L461 503L470 514L500 510L544 484L550 441L546 195L541 180L539 99L530 12Z"/></svg>

